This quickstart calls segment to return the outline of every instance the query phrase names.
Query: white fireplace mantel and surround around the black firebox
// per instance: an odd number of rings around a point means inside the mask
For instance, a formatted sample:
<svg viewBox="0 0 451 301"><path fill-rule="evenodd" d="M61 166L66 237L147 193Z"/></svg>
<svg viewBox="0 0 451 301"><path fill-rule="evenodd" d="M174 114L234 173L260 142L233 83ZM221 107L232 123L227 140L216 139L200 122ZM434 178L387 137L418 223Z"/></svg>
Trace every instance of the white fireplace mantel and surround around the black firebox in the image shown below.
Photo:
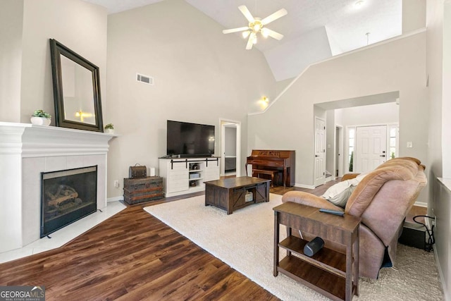
<svg viewBox="0 0 451 301"><path fill-rule="evenodd" d="M97 165L97 209L106 207L106 155L113 137L0 122L0 252L39 240L41 172Z"/></svg>

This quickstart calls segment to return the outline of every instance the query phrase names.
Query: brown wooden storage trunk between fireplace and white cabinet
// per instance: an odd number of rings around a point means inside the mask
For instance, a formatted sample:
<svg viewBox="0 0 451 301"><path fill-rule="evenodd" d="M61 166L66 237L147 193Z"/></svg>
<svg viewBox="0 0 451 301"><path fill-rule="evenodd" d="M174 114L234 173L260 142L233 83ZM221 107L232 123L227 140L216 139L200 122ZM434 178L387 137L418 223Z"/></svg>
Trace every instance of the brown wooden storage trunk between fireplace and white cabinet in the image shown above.
<svg viewBox="0 0 451 301"><path fill-rule="evenodd" d="M124 202L127 204L153 201L154 199L161 199L163 196L163 178L124 179Z"/></svg>

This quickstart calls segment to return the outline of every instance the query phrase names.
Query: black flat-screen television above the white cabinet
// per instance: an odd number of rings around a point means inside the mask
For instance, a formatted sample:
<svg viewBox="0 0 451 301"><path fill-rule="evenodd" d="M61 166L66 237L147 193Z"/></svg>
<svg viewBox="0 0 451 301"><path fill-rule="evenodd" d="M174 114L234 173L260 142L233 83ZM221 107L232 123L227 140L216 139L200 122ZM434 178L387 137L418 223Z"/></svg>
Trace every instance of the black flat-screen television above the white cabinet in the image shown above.
<svg viewBox="0 0 451 301"><path fill-rule="evenodd" d="M168 121L167 129L168 156L213 156L214 125Z"/></svg>

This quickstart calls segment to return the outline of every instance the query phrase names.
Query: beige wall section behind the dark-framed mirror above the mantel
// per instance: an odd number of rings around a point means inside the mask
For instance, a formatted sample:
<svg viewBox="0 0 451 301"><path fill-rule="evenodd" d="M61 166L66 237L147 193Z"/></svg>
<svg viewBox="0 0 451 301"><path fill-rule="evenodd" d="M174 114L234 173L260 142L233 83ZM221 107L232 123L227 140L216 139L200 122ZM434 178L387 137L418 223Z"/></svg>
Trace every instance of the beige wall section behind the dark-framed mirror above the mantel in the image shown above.
<svg viewBox="0 0 451 301"><path fill-rule="evenodd" d="M55 116L51 38L99 66L106 106L106 8L80 0L24 0L20 122L30 123L36 109Z"/></svg>

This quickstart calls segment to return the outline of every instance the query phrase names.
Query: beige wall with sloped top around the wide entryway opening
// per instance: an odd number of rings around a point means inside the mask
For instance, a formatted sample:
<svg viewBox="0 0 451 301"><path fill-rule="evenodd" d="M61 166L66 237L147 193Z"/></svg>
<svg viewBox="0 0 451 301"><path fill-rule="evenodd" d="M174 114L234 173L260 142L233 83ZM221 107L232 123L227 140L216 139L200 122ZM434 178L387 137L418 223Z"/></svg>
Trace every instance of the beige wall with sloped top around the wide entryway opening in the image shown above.
<svg viewBox="0 0 451 301"><path fill-rule="evenodd" d="M400 155L427 165L425 56L426 34L419 32L310 66L266 112L249 116L249 152L295 149L296 183L311 186L314 104L400 91Z"/></svg>

